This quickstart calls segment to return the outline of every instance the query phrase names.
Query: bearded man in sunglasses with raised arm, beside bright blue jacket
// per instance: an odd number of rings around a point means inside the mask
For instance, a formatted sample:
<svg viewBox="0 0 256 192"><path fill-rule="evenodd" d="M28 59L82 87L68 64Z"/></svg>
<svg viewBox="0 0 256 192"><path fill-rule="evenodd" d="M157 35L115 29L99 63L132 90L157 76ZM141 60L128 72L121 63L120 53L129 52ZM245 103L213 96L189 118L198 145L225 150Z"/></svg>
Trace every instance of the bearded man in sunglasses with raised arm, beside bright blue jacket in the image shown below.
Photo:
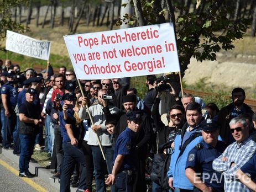
<svg viewBox="0 0 256 192"><path fill-rule="evenodd" d="M170 166L171 150L173 148L173 141L175 136L179 134L182 126L185 123L186 112L181 105L173 105L169 109L167 115L168 126L161 121L159 114L159 103L161 91L158 92L154 100L152 118L156 127L158 134L158 154L154 155L154 164L156 164L156 169L153 166L153 172L150 175L150 178L153 180L152 190L153 191L169 191L168 179L166 179L166 173ZM170 92L173 94L173 92ZM158 162L164 161L164 166L161 166ZM162 160L163 159L163 160ZM161 177L160 177L161 176ZM164 176L164 177L163 177Z"/></svg>

